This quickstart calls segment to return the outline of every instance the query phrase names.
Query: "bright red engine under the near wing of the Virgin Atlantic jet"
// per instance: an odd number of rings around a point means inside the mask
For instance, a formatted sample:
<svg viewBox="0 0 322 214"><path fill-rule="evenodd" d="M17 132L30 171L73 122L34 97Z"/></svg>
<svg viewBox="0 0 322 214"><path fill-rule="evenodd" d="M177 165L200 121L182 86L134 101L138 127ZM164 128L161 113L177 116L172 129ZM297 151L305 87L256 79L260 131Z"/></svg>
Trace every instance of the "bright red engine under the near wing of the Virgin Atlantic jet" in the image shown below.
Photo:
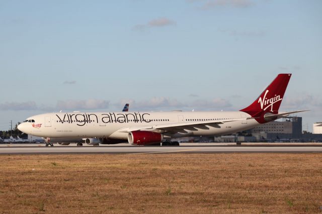
<svg viewBox="0 0 322 214"><path fill-rule="evenodd" d="M128 134L127 139L131 145L151 145L162 142L163 135L156 132L134 131Z"/></svg>

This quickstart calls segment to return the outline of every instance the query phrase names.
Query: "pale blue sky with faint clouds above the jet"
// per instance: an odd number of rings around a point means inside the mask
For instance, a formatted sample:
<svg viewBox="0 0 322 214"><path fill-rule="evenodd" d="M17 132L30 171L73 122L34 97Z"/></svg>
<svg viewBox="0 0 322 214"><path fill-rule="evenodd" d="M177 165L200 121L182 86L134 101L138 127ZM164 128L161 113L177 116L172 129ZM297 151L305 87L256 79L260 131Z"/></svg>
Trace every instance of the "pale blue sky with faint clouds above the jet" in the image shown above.
<svg viewBox="0 0 322 214"><path fill-rule="evenodd" d="M0 0L0 130L48 112L281 111L322 121L322 1Z"/></svg>

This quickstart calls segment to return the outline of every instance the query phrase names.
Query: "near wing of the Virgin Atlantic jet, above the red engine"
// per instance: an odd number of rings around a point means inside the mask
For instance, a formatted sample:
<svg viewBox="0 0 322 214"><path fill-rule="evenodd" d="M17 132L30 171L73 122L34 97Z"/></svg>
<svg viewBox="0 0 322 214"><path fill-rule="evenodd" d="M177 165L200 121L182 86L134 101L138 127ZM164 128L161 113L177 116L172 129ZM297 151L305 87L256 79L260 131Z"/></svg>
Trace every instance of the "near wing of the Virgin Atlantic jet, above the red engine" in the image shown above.
<svg viewBox="0 0 322 214"><path fill-rule="evenodd" d="M253 118L236 118L236 119L227 119L227 120L211 120L211 121L193 121L193 122L183 122L183 123L171 123L171 124L162 124L162 125L152 125L152 126L141 126L141 127L125 127L117 132L133 132L133 131L156 131L159 132L179 132L186 133L185 130L197 131L197 129L209 129L207 126L220 128L219 124L224 124L227 122L233 121L245 121L251 120Z"/></svg>

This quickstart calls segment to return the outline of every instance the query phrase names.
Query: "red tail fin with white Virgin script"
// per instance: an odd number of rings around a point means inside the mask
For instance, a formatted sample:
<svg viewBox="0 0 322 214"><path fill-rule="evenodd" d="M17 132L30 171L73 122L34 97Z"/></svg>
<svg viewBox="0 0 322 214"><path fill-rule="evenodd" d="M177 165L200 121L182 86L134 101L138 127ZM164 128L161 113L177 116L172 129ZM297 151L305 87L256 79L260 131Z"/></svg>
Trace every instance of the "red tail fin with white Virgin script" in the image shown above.
<svg viewBox="0 0 322 214"><path fill-rule="evenodd" d="M252 117L258 117L263 115L263 113L278 114L278 109L280 108L291 75L289 73L278 74L252 104L240 111L248 113Z"/></svg>

